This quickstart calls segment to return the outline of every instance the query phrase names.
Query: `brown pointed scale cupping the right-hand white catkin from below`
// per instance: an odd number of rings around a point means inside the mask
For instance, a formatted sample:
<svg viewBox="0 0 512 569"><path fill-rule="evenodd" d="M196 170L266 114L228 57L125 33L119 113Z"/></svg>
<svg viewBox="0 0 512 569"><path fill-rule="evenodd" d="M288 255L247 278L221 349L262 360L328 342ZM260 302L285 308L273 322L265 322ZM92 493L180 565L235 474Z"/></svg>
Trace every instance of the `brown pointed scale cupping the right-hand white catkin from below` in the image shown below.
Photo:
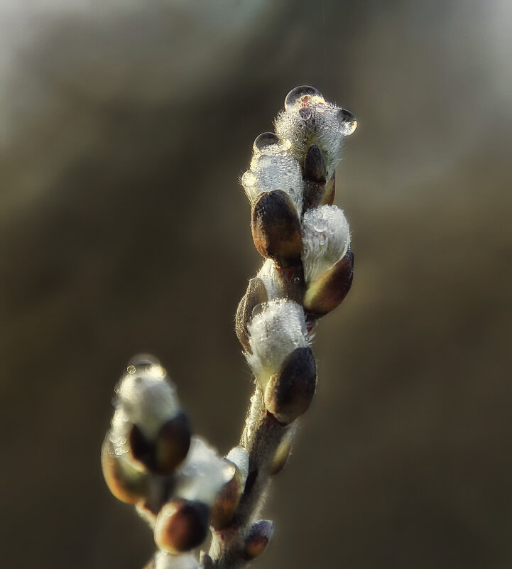
<svg viewBox="0 0 512 569"><path fill-rule="evenodd" d="M348 251L332 269L307 288L304 308L310 313L324 315L334 310L349 293L354 276L354 254Z"/></svg>

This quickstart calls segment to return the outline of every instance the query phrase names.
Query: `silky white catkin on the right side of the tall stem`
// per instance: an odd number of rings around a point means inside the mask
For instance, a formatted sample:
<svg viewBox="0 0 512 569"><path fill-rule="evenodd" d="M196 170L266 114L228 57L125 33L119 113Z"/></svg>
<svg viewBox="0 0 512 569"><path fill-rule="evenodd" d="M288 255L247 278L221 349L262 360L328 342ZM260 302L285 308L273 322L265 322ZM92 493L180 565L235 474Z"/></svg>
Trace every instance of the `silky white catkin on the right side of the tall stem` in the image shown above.
<svg viewBox="0 0 512 569"><path fill-rule="evenodd" d="M347 253L349 223L343 210L322 205L307 210L303 218L303 266L307 284L329 271Z"/></svg>

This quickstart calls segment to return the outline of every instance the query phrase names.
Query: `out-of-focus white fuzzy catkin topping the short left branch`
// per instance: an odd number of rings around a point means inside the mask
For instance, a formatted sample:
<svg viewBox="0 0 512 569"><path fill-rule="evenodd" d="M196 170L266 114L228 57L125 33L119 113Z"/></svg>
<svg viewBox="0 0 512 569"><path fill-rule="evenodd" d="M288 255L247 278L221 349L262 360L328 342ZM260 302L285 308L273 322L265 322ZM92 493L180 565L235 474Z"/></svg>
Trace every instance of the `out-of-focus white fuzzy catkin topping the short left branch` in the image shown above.
<svg viewBox="0 0 512 569"><path fill-rule="evenodd" d="M116 394L117 408L111 429L115 439L125 437L132 424L151 439L165 421L180 412L176 391L160 364L127 367L116 386Z"/></svg>

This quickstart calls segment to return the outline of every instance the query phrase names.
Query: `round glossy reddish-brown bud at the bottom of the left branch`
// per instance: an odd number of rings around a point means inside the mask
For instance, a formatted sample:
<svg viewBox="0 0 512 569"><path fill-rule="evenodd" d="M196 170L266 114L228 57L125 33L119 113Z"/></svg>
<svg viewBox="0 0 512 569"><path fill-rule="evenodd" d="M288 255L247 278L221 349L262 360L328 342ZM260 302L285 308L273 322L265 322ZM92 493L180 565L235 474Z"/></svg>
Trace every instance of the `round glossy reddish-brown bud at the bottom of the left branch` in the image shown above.
<svg viewBox="0 0 512 569"><path fill-rule="evenodd" d="M202 502L174 500L160 510L154 538L160 549L183 553L199 546L207 536L209 508Z"/></svg>

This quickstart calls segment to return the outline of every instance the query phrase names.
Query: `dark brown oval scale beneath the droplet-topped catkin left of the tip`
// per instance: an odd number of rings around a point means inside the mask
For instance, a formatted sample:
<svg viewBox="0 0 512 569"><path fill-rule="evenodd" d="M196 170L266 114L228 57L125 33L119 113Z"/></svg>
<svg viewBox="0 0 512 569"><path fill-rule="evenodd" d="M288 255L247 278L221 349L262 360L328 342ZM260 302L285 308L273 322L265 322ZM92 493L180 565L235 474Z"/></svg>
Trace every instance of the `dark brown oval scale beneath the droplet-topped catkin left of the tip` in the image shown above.
<svg viewBox="0 0 512 569"><path fill-rule="evenodd" d="M292 200L283 190L263 192L254 203L251 221L254 246L277 266L300 264L303 240Z"/></svg>

